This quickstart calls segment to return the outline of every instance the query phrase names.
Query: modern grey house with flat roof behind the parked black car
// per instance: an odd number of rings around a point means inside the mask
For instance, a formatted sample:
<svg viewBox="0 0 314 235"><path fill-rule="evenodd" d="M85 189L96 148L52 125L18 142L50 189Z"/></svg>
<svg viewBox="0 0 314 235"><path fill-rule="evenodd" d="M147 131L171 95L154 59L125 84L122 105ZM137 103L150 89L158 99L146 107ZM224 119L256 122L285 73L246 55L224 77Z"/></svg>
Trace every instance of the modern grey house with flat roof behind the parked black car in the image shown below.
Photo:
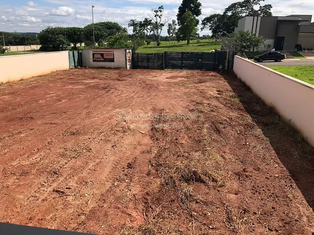
<svg viewBox="0 0 314 235"><path fill-rule="evenodd" d="M265 43L276 50L294 50L297 44L314 49L314 25L311 21L311 15L244 17L238 21L235 32L250 30L266 38Z"/></svg>

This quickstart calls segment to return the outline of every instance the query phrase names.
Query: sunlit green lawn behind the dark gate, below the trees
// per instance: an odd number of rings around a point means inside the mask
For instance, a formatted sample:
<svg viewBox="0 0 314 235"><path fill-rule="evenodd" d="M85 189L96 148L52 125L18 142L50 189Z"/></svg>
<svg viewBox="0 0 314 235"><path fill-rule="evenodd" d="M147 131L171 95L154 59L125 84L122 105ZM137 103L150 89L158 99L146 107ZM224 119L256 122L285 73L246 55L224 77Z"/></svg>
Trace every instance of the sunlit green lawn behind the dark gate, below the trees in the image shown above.
<svg viewBox="0 0 314 235"><path fill-rule="evenodd" d="M198 41L198 43L197 43ZM215 43L215 40L194 40L190 42L190 45L186 45L185 42L161 42L161 45L157 47L153 46L153 42L147 47L143 46L136 50L138 53L157 53L164 51L204 51L209 52L213 49L220 49L220 43Z"/></svg>

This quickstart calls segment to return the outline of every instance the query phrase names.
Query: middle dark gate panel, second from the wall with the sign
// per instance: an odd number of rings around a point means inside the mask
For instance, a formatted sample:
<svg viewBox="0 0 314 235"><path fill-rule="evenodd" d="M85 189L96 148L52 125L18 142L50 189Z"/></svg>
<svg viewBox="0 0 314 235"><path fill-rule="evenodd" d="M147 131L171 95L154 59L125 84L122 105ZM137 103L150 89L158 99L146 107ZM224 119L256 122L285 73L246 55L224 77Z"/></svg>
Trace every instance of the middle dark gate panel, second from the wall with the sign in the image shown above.
<svg viewBox="0 0 314 235"><path fill-rule="evenodd" d="M165 52L165 70L200 70L202 52Z"/></svg>

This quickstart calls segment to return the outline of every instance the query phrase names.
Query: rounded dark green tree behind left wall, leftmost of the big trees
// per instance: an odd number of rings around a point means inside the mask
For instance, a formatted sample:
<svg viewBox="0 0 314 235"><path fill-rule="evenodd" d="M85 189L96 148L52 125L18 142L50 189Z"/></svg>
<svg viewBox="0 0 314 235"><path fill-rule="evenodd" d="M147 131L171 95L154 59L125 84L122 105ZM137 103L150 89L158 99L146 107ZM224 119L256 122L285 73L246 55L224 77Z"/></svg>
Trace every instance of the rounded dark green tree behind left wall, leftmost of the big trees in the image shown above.
<svg viewBox="0 0 314 235"><path fill-rule="evenodd" d="M69 46L67 38L64 36L65 28L62 27L47 27L39 33L41 50L57 51L64 50Z"/></svg>

